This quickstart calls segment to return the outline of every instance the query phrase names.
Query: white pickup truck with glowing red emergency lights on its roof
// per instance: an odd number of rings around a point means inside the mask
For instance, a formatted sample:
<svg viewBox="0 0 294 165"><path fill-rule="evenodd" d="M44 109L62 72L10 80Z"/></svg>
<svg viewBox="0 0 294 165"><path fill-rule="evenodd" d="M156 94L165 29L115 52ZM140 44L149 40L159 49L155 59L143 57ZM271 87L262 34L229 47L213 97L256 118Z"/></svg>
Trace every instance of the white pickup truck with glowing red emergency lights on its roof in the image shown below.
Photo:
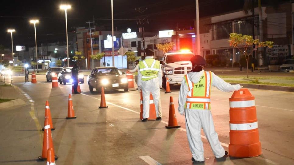
<svg viewBox="0 0 294 165"><path fill-rule="evenodd" d="M190 51L172 51L163 55L160 62L163 72L162 86L165 89L166 79L169 80L170 87L174 84L182 83L183 77L192 69L190 59L194 54Z"/></svg>

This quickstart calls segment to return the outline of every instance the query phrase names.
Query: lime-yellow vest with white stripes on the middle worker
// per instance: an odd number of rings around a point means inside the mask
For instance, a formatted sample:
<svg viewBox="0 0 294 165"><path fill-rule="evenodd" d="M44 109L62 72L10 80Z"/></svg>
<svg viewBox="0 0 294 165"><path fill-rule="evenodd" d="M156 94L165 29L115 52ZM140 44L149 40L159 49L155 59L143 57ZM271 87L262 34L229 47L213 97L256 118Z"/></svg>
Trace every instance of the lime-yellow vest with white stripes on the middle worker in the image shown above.
<svg viewBox="0 0 294 165"><path fill-rule="evenodd" d="M158 77L160 62L155 59L145 59L139 62L139 69L142 74L142 80L148 81Z"/></svg>

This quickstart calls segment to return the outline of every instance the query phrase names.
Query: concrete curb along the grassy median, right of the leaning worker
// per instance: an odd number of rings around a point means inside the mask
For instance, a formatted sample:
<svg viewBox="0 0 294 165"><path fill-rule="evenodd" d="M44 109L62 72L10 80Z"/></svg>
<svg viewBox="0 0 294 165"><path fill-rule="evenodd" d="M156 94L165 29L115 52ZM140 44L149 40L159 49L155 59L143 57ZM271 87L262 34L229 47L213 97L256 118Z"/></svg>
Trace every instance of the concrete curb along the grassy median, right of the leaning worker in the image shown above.
<svg viewBox="0 0 294 165"><path fill-rule="evenodd" d="M230 84L240 84L244 88L294 92L294 87L289 87L289 86L273 86L273 85L244 84L244 83L230 83Z"/></svg>

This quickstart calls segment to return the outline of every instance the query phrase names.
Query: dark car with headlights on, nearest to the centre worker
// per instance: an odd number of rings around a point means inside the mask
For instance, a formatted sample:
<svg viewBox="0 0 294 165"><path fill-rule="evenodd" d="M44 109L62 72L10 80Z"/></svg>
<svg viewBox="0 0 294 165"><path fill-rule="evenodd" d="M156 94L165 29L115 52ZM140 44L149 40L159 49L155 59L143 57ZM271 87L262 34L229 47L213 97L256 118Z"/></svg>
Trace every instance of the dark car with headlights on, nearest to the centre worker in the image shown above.
<svg viewBox="0 0 294 165"><path fill-rule="evenodd" d="M92 93L95 88L97 92L104 89L124 89L129 90L128 79L116 67L98 67L94 68L88 77L89 90Z"/></svg>

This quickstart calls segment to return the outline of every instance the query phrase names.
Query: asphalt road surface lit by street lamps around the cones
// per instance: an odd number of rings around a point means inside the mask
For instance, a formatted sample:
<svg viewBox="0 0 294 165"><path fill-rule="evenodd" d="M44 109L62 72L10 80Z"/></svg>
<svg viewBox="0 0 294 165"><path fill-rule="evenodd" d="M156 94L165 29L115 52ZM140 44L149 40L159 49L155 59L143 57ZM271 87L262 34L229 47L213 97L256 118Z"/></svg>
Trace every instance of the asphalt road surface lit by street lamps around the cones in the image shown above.
<svg viewBox="0 0 294 165"><path fill-rule="evenodd" d="M141 122L140 93L135 89L106 91L107 109L98 109L98 93L90 93L87 83L81 94L72 95L76 119L66 120L68 94L72 85L51 88L45 75L37 84L13 77L26 105L0 111L0 164L45 164L37 161L42 152L40 129L44 126L44 104L49 100L53 125L56 164L193 164L184 116L177 112L179 87L172 93L161 91L162 121ZM86 77L85 77L86 82ZM258 129L263 154L260 157L215 159L202 133L205 163L202 164L294 164L294 93L250 89L255 96ZM28 96L27 96L27 95ZM229 144L229 97L212 89L215 130L225 150ZM169 97L173 96L180 129L165 129Z"/></svg>

